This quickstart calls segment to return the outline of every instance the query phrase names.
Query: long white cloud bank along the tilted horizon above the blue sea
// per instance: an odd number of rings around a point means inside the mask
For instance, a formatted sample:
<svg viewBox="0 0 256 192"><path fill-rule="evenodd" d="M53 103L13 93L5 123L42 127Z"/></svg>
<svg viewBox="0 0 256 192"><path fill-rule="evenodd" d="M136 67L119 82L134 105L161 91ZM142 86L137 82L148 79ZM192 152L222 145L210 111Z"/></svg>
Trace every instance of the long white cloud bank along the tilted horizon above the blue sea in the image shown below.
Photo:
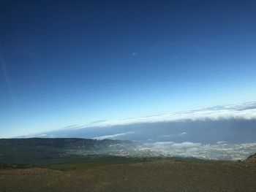
<svg viewBox="0 0 256 192"><path fill-rule="evenodd" d="M122 126L134 123L178 122L184 120L227 120L227 119L256 119L256 102L233 104L227 106L208 107L202 110L172 112L163 115L153 115L123 120L106 120L99 123L77 126L74 128Z"/></svg>

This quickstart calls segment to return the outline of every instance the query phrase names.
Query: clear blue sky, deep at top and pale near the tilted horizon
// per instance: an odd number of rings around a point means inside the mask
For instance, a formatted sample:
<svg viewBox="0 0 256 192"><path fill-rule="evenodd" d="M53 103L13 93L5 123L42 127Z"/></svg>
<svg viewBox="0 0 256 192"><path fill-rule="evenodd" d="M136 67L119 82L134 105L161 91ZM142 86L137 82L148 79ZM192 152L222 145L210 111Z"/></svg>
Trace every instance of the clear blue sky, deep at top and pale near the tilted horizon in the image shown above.
<svg viewBox="0 0 256 192"><path fill-rule="evenodd" d="M255 1L0 1L0 137L255 101Z"/></svg>

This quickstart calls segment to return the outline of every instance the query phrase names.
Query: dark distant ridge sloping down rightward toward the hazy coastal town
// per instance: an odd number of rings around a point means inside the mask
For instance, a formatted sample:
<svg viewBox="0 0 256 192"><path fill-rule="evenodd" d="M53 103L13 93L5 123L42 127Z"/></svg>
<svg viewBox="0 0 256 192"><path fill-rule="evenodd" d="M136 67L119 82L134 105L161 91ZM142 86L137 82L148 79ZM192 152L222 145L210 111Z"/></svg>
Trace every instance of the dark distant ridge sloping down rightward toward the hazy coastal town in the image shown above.
<svg viewBox="0 0 256 192"><path fill-rule="evenodd" d="M38 163L84 155L108 155L126 145L132 145L132 142L76 138L0 139L0 163Z"/></svg>

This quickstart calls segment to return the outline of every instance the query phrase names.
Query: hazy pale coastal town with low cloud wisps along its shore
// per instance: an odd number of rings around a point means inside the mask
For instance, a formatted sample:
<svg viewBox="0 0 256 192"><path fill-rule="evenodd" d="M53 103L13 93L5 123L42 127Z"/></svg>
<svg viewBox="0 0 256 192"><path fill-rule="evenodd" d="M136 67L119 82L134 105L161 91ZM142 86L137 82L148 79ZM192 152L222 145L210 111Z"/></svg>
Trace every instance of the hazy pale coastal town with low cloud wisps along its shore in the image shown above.
<svg viewBox="0 0 256 192"><path fill-rule="evenodd" d="M150 142L124 150L129 156L194 157L214 160L244 160L256 153L256 143L203 145L195 142ZM118 152L116 152L118 153ZM118 154L122 155L122 154Z"/></svg>

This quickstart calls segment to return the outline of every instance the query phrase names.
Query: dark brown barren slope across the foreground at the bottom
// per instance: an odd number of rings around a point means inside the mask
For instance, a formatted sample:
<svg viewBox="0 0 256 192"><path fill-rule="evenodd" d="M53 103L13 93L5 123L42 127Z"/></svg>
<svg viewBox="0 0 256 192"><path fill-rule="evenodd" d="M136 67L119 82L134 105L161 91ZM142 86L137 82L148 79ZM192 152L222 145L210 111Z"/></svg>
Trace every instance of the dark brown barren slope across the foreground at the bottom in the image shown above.
<svg viewBox="0 0 256 192"><path fill-rule="evenodd" d="M256 191L255 162L152 161L0 169L0 191Z"/></svg>

